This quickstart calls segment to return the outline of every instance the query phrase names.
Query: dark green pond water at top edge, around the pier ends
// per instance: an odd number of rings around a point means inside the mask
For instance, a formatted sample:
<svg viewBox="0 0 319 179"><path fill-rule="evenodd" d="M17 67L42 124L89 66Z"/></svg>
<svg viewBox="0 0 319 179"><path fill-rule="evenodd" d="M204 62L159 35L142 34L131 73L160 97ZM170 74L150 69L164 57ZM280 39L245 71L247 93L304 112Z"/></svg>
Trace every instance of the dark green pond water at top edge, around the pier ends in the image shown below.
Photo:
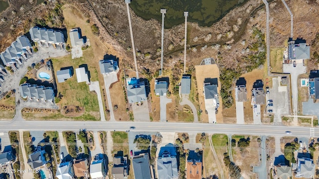
<svg viewBox="0 0 319 179"><path fill-rule="evenodd" d="M149 20L161 22L160 8L166 8L165 28L184 22L183 11L189 11L187 21L210 26L236 6L247 0L132 0L130 7L135 13Z"/></svg>

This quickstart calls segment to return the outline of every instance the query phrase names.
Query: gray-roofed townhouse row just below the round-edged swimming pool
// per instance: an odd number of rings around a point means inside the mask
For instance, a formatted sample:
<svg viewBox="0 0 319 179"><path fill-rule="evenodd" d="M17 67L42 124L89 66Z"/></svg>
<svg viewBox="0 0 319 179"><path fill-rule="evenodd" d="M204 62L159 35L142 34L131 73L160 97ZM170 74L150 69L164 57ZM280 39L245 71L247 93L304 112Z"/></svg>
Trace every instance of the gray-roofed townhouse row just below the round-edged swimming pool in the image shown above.
<svg viewBox="0 0 319 179"><path fill-rule="evenodd" d="M51 100L54 99L54 92L51 87L44 88L30 84L22 84L19 87L21 97L30 97L35 99Z"/></svg>

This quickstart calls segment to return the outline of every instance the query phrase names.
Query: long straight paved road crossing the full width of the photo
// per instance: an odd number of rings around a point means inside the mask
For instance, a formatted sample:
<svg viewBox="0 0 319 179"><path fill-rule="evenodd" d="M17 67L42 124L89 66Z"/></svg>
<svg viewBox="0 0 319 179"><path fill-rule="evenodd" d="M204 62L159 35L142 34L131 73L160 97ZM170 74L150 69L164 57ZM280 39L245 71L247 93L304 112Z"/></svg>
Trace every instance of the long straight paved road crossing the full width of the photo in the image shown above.
<svg viewBox="0 0 319 179"><path fill-rule="evenodd" d="M292 136L309 137L309 127L290 127L277 125L253 125L253 124L208 124L208 123L178 123L178 122L103 122L103 121L0 121L0 132L12 130L26 131L52 131L57 130L77 131L86 129L88 131L127 131L130 126L135 126L137 132L205 132L216 134L238 134L238 135L270 135L285 136L285 131L292 131ZM132 130L132 129L131 129ZM315 137L319 135L319 128L315 128ZM60 135L60 133L59 133ZM62 135L62 133L61 133ZM60 136L59 136L60 137ZM61 140L61 138L60 138ZM63 140L63 138L62 138ZM62 146L62 142L61 142Z"/></svg>

